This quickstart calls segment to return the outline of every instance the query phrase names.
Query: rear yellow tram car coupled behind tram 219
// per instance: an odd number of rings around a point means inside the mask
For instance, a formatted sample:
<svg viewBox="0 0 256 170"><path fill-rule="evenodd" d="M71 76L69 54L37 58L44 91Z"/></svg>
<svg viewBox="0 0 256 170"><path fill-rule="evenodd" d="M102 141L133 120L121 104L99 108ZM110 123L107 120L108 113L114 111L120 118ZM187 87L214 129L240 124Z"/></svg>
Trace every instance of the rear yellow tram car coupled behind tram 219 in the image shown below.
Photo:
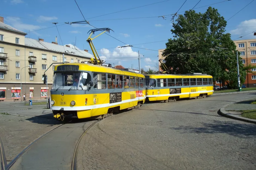
<svg viewBox="0 0 256 170"><path fill-rule="evenodd" d="M187 75L145 75L146 100L176 101L180 98L206 97L213 94L212 76L192 73Z"/></svg>

